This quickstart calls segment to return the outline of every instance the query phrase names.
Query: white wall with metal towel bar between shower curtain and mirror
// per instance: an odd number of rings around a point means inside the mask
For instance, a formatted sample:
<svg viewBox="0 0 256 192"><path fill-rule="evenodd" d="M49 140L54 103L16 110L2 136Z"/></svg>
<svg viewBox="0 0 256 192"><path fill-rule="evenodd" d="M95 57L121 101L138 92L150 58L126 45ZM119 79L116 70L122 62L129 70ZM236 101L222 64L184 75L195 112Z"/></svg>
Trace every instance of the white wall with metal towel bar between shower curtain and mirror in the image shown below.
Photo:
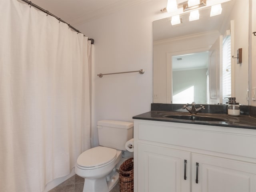
<svg viewBox="0 0 256 192"><path fill-rule="evenodd" d="M76 26L95 40L92 146L98 145L96 122L102 119L132 122L132 116L150 111L152 103L152 22L167 0L152 0ZM97 74L144 69L99 78Z"/></svg>

